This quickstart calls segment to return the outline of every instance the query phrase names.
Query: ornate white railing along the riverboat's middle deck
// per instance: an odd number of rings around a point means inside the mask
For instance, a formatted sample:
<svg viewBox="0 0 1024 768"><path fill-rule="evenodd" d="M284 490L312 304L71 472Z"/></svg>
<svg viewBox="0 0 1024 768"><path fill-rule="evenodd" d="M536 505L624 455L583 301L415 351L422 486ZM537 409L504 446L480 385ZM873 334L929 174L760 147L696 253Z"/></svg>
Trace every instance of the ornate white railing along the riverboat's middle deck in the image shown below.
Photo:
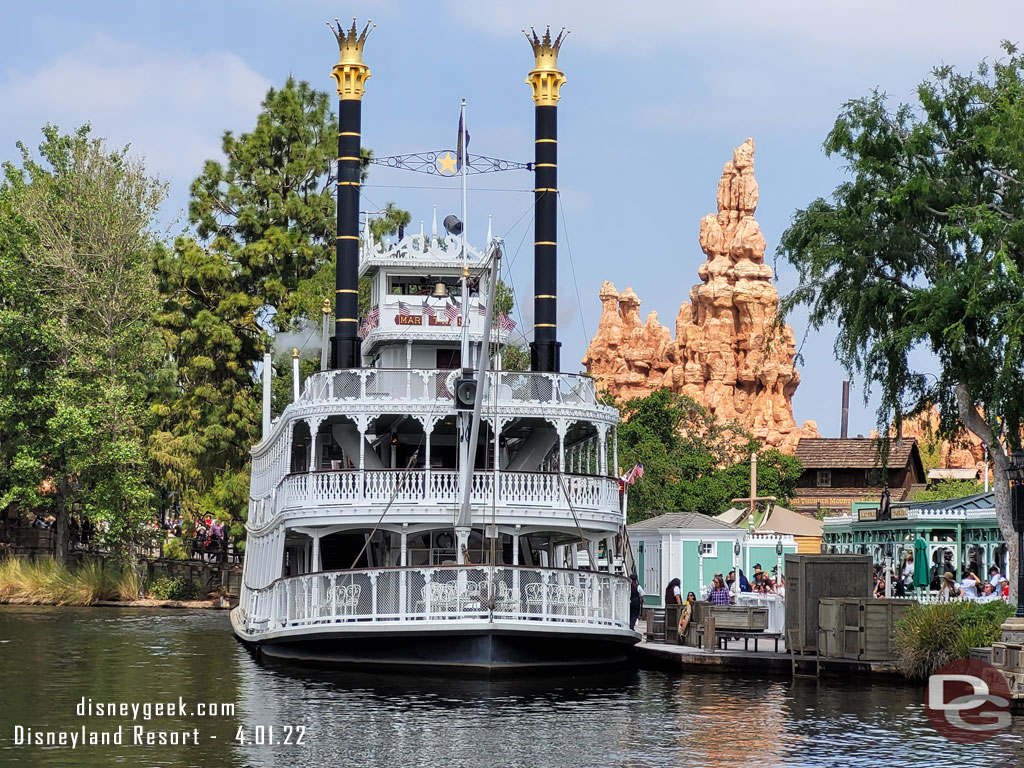
<svg viewBox="0 0 1024 768"><path fill-rule="evenodd" d="M498 498L494 472L475 472L472 504L514 507L563 508L566 498L583 512L618 513L618 480L595 475L559 475L546 472L499 472ZM459 473L452 469L340 470L288 475L272 504L256 504L250 523L263 525L273 514L289 509L355 505L417 503L449 509L462 500Z"/></svg>

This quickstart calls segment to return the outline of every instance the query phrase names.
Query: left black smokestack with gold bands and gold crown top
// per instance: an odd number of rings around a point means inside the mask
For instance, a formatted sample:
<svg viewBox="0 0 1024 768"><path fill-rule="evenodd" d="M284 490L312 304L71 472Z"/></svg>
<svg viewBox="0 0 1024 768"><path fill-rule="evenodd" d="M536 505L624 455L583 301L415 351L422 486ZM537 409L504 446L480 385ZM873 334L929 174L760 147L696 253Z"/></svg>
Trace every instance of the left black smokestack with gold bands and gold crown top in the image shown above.
<svg viewBox="0 0 1024 768"><path fill-rule="evenodd" d="M362 63L370 23L359 34L355 19L348 32L337 18L334 20L338 29L328 27L338 39L340 56L331 71L338 90L338 225L331 357L335 368L359 368L359 131L362 93L370 77L370 68Z"/></svg>

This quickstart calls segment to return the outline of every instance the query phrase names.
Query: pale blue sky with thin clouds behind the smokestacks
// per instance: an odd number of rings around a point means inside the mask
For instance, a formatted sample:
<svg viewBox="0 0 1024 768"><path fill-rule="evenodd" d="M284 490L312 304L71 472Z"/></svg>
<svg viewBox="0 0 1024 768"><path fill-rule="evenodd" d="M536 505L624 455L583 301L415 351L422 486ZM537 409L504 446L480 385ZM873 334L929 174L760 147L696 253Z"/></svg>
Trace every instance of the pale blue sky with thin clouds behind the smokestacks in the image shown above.
<svg viewBox="0 0 1024 768"><path fill-rule="evenodd" d="M362 142L378 157L454 148L467 100L471 154L532 160L534 105L523 28L571 34L559 65L559 339L562 370L577 371L600 317L598 289L632 287L641 314L672 329L698 282L700 217L715 211L722 166L748 137L757 147L757 218L780 294L795 270L774 262L794 212L844 179L822 141L847 100L879 88L912 101L933 67L971 70L1024 40L1016 0L152 0L0 6L0 161L16 161L40 128L90 123L112 146L130 144L168 182L161 226L187 228L188 184L220 158L224 131L255 125L267 88L289 75L325 91L337 44L325 23L377 25L365 50L372 77ZM532 296L531 178L525 171L470 179L467 232L483 245L488 216L506 240L516 293ZM458 181L375 168L360 209L393 202L413 229L433 206L459 213ZM520 302L522 325L530 322ZM791 318L802 384L798 423L838 436L846 374L835 329ZM928 360L922 359L927 368ZM865 394L867 402L865 402ZM877 398L854 379L850 434L874 426Z"/></svg>

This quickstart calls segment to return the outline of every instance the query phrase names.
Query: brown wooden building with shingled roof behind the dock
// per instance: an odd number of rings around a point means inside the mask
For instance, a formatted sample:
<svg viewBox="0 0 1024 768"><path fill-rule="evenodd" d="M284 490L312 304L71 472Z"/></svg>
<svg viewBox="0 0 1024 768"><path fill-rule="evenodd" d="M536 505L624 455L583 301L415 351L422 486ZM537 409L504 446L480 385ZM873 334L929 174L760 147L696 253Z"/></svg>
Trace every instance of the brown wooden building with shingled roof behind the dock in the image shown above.
<svg viewBox="0 0 1024 768"><path fill-rule="evenodd" d="M804 472L791 506L815 516L849 512L852 502L878 501L886 487L892 501L906 501L927 482L916 439L890 442L887 469L872 437L805 437L797 458Z"/></svg>

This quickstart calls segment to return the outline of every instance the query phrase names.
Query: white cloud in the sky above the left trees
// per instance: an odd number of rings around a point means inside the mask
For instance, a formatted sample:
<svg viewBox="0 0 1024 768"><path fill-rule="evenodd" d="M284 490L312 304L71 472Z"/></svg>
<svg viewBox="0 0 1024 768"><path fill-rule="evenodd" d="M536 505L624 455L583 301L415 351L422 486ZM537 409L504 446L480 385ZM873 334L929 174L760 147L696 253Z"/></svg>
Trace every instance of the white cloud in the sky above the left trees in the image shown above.
<svg viewBox="0 0 1024 768"><path fill-rule="evenodd" d="M0 75L2 155L39 129L83 123L112 145L131 144L146 168L179 185L219 156L225 128L247 128L269 81L227 51L157 50L96 36L35 67ZM180 205L180 202L178 202Z"/></svg>

